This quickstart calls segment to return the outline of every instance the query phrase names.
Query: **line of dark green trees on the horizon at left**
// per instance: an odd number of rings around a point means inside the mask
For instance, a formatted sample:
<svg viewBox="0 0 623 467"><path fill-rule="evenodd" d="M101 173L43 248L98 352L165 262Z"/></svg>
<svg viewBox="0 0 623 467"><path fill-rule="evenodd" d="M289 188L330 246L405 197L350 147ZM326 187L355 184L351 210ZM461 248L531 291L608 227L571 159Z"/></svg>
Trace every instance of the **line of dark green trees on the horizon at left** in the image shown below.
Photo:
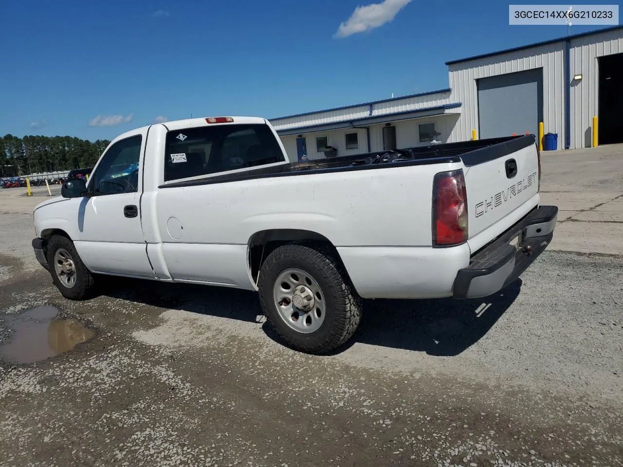
<svg viewBox="0 0 623 467"><path fill-rule="evenodd" d="M110 141L95 142L72 136L24 136L6 134L0 138L0 177L66 171L93 167Z"/></svg>

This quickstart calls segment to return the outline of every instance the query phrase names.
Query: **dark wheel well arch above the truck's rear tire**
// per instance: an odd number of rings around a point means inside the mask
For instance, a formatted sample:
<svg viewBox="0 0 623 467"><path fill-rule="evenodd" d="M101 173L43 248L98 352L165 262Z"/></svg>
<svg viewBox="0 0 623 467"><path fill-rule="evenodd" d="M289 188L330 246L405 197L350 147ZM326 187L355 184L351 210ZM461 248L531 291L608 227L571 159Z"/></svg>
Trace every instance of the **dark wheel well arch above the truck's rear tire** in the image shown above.
<svg viewBox="0 0 623 467"><path fill-rule="evenodd" d="M292 242L303 242L312 240L313 242L325 243L334 247L333 243L324 235L312 230L298 229L273 229L256 232L249 239L249 270L252 280L257 283L257 278L262 268L262 263L275 248ZM334 247L335 248L335 247Z"/></svg>

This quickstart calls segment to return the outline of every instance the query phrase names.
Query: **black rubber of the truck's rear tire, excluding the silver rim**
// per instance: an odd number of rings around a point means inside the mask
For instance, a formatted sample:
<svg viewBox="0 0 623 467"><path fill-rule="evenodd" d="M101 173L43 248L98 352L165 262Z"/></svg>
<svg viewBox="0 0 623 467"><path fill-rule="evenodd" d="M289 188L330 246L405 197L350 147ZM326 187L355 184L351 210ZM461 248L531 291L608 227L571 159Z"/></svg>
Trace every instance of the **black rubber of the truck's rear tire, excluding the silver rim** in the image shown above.
<svg viewBox="0 0 623 467"><path fill-rule="evenodd" d="M275 281L288 268L312 275L325 296L325 319L311 334L285 324L273 300ZM316 355L331 352L353 336L361 321L361 297L335 249L321 243L290 243L275 248L260 268L258 287L262 311L282 339L298 351Z"/></svg>

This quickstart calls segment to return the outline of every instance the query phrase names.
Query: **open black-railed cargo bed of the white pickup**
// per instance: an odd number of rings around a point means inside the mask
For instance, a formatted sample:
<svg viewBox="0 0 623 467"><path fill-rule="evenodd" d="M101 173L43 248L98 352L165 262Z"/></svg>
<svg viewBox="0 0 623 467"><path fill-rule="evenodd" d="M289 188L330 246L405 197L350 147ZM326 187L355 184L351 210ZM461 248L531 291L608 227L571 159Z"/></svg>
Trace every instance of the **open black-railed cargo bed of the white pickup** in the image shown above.
<svg viewBox="0 0 623 467"><path fill-rule="evenodd" d="M507 136L504 138L477 139L460 143L431 144L414 148L379 151L354 156L314 159L287 164L258 167L246 171L217 174L205 177L168 182L166 187L194 186L213 183L235 182L265 177L307 175L323 172L379 169L382 167L413 166L422 164L457 163L474 166L511 154L535 144L533 135Z"/></svg>

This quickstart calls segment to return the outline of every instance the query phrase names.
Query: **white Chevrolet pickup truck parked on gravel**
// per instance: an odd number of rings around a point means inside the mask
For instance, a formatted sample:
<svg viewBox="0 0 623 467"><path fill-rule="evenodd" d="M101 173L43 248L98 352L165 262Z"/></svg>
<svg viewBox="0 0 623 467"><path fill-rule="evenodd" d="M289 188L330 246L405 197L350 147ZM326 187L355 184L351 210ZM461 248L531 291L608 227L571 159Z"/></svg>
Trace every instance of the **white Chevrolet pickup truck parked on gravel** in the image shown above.
<svg viewBox="0 0 623 467"><path fill-rule="evenodd" d="M533 136L290 162L264 118L121 134L85 183L37 205L37 260L60 293L100 274L259 291L291 346L348 340L362 298L501 290L551 241Z"/></svg>

